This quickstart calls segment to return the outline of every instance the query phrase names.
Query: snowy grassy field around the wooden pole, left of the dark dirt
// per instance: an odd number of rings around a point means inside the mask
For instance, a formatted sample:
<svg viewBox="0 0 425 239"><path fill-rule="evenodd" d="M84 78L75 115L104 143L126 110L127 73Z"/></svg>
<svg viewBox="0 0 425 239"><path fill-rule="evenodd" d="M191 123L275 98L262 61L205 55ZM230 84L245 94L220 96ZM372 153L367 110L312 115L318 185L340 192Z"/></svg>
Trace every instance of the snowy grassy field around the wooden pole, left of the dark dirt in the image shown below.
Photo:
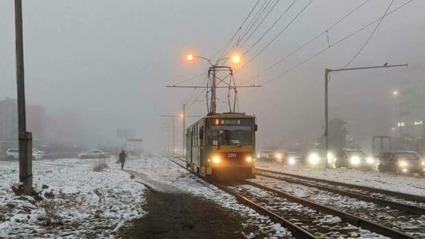
<svg viewBox="0 0 425 239"><path fill-rule="evenodd" d="M15 196L18 163L0 161L0 238L114 238L125 221L143 216L145 187L112 158L108 169L94 172L97 161L34 161L34 185L49 186L42 201Z"/></svg>

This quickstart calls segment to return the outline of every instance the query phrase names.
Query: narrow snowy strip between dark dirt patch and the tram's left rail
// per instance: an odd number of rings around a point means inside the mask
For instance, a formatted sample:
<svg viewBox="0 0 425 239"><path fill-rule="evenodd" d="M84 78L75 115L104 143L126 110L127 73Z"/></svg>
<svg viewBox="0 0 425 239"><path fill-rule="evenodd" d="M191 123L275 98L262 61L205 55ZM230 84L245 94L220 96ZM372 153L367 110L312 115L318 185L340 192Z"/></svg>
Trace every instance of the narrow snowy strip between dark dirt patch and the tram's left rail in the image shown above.
<svg viewBox="0 0 425 239"><path fill-rule="evenodd" d="M268 234L270 238L282 238L290 234L284 227L273 223L265 216L261 216L250 207L241 205L234 196L195 177L166 157L149 155L142 159L126 161L125 168L136 176L136 180L147 184L149 187L154 187L156 190L193 194L239 212L241 216L247 218L244 227L258 227L259 231ZM245 237L255 238L256 235L255 233L245 234Z"/></svg>

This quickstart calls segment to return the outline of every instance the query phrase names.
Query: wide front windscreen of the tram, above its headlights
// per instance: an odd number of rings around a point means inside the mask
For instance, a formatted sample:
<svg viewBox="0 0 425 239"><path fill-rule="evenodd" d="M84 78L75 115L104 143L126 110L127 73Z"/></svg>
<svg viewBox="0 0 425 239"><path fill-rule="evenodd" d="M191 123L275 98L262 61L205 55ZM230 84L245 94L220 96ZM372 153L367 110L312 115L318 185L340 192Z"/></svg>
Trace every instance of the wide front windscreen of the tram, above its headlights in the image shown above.
<svg viewBox="0 0 425 239"><path fill-rule="evenodd" d="M211 133L213 146L252 145L252 120L219 120L213 124Z"/></svg>

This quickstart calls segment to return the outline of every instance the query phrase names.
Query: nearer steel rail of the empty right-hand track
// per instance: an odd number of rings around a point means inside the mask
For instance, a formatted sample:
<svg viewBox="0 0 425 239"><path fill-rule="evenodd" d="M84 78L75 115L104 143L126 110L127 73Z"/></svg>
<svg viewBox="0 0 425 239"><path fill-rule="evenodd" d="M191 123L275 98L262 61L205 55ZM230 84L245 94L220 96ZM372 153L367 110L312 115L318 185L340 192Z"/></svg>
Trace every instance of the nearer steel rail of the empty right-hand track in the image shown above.
<svg viewBox="0 0 425 239"><path fill-rule="evenodd" d="M358 193L354 193L354 192L348 192L345 190L338 190L336 188L333 187L326 187L323 185L317 185L315 183L308 183L305 181L300 181L300 180L296 180L296 179L290 179L287 177L276 177L276 176L271 176L268 174L263 174L263 173L256 173L257 175L263 176L263 177L268 177L271 179L277 179L280 181L287 181L288 183L294 183L294 184L300 184L300 185L305 185L308 187L316 187L319 190L324 190L324 191L328 191L328 192L333 192L335 194L340 194L342 196L348 196L350 198L357 198L360 199L362 201L366 201L369 203L375 203L377 205L383 206L383 207L391 207L392 209L398 209L402 212L407 212L409 214L415 214L415 215L425 215L425 208L424 207L417 207L417 206L413 206L413 205L408 205L408 204L404 204L404 203L397 203L394 201L389 201L389 200L385 200L385 199L381 199L381 198L375 198L372 196L367 196L364 194L358 194Z"/></svg>

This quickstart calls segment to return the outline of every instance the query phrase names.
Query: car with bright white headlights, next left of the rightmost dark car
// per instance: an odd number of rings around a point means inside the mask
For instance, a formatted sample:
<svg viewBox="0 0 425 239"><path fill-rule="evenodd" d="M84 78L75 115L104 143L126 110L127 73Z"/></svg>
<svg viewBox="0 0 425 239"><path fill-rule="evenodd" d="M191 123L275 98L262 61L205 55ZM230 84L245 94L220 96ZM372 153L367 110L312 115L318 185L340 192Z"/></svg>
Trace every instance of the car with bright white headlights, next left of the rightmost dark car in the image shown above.
<svg viewBox="0 0 425 239"><path fill-rule="evenodd" d="M335 168L364 168L367 170L374 169L374 157L367 157L362 150L343 148L335 157Z"/></svg>

